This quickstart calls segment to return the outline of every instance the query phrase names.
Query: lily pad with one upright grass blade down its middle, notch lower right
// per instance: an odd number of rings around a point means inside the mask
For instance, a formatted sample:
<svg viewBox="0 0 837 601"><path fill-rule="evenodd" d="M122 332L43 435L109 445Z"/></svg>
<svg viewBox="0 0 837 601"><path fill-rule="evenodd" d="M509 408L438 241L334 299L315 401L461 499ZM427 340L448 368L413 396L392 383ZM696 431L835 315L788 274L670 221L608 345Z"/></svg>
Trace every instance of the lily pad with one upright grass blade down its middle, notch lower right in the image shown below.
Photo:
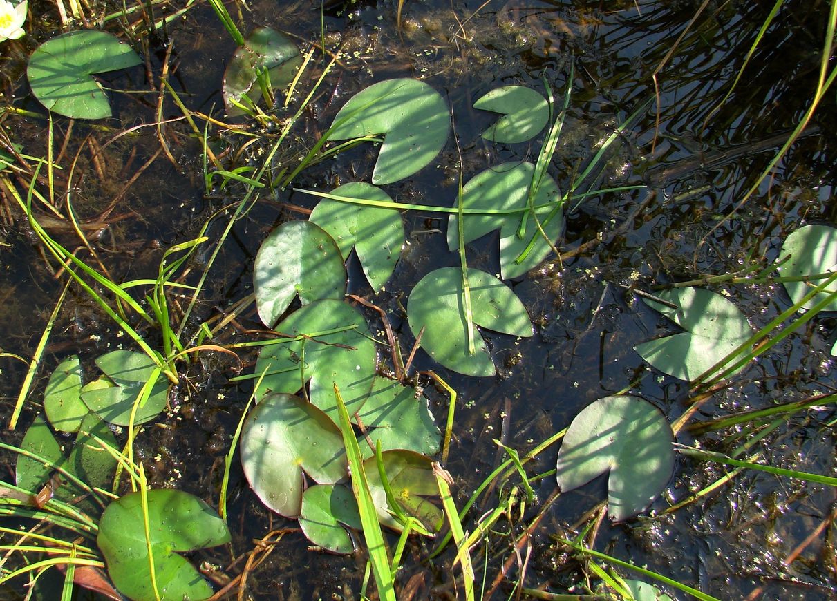
<svg viewBox="0 0 837 601"><path fill-rule="evenodd" d="M531 336L526 307L511 288L485 271L469 269L471 310L475 326L512 336ZM410 295L407 316L414 336L424 327L421 346L430 357L467 376L493 376L494 362L474 327L475 354L468 352L465 291L458 267L443 267L425 275Z"/></svg>

